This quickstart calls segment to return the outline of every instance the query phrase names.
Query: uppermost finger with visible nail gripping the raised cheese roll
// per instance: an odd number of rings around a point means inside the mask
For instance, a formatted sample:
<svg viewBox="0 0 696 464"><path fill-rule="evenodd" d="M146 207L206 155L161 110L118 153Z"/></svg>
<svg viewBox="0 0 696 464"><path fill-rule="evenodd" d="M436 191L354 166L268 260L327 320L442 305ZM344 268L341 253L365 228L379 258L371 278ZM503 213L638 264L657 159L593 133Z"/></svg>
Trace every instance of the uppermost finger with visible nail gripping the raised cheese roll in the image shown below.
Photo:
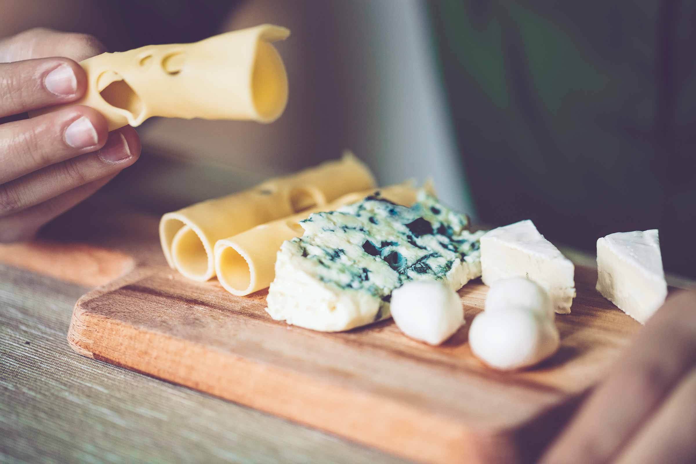
<svg viewBox="0 0 696 464"><path fill-rule="evenodd" d="M0 63L0 118L74 102L86 87L84 70L69 58Z"/></svg>

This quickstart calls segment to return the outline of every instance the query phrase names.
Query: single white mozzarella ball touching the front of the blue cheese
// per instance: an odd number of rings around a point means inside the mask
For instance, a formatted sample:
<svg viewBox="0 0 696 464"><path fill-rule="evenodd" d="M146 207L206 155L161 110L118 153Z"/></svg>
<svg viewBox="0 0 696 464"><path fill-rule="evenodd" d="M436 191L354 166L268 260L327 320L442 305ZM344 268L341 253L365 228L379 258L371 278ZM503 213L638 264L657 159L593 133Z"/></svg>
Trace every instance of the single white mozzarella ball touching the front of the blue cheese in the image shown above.
<svg viewBox="0 0 696 464"><path fill-rule="evenodd" d="M431 345L441 344L464 324L459 295L441 282L407 282L394 290L391 313L404 334Z"/></svg>

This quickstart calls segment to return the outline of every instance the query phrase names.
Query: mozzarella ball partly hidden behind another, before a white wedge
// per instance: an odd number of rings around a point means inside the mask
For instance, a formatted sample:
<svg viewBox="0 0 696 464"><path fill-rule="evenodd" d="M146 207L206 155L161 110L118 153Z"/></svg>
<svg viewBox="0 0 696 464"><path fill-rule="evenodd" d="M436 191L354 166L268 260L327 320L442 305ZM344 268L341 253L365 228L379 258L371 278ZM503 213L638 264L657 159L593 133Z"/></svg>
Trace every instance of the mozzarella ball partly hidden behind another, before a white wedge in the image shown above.
<svg viewBox="0 0 696 464"><path fill-rule="evenodd" d="M533 312L543 319L553 320L551 298L546 290L523 277L496 280L486 296L486 312L517 309Z"/></svg>

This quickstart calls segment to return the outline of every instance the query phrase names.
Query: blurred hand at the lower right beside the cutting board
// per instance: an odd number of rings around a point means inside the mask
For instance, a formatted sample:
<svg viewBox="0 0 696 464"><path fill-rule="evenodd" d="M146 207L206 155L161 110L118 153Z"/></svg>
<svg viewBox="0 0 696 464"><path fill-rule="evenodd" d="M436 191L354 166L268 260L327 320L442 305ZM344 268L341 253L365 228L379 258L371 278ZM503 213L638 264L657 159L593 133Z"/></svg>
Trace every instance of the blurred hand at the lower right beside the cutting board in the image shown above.
<svg viewBox="0 0 696 464"><path fill-rule="evenodd" d="M696 291L667 299L540 462L696 462Z"/></svg>

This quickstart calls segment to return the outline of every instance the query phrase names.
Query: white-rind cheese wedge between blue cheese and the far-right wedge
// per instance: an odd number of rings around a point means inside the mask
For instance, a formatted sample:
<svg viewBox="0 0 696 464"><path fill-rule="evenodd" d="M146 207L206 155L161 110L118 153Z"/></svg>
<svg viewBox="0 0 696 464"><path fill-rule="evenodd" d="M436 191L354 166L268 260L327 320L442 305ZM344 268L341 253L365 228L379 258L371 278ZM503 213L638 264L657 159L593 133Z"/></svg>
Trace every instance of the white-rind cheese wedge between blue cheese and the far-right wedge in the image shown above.
<svg viewBox="0 0 696 464"><path fill-rule="evenodd" d="M539 234L532 221L493 229L481 237L481 278L525 277L544 288L558 314L568 314L575 298L575 266Z"/></svg>

